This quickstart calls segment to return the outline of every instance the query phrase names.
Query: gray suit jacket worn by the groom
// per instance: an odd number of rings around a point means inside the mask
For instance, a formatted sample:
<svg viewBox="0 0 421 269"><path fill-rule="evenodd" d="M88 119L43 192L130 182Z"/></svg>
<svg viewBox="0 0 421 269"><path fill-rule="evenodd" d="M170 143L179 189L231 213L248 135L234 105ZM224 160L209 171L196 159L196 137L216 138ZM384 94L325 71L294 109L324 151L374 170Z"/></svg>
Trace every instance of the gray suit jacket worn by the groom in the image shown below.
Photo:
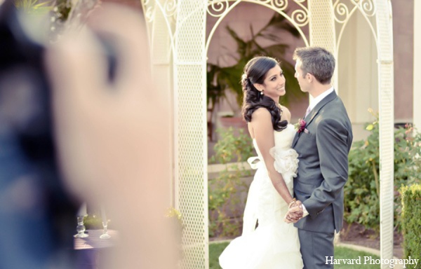
<svg viewBox="0 0 421 269"><path fill-rule="evenodd" d="M333 233L342 228L343 187L348 179L348 153L352 127L342 100L330 93L305 118L308 132L297 133L293 149L298 153L295 198L309 212L295 227Z"/></svg>

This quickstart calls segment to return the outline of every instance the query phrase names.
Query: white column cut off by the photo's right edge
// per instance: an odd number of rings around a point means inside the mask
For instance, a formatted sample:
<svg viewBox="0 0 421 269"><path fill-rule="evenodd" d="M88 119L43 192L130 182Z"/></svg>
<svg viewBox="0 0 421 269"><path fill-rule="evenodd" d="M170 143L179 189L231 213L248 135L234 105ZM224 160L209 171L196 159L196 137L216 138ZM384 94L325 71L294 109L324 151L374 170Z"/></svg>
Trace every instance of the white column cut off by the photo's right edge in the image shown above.
<svg viewBox="0 0 421 269"><path fill-rule="evenodd" d="M413 95L413 124L421 127L421 13L420 1L414 1L414 95ZM421 132L421 130L418 130Z"/></svg>

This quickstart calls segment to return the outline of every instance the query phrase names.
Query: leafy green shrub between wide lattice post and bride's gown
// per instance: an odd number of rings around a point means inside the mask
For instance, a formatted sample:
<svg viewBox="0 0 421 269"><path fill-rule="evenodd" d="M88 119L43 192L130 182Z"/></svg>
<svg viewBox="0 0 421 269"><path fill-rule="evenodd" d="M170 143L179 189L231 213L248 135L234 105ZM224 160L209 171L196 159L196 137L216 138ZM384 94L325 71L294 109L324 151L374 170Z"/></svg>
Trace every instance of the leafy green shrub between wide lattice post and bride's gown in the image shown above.
<svg viewBox="0 0 421 269"><path fill-rule="evenodd" d="M247 191L247 184L241 181L243 177L250 176L250 170L242 162L253 155L253 142L248 134L239 129L238 135L234 128L218 129L220 139L215 144L215 155L211 161L225 164L225 170L213 179L208 188L209 209L209 236L233 237L241 232L241 219L239 216L239 193ZM229 163L231 161L238 163Z"/></svg>

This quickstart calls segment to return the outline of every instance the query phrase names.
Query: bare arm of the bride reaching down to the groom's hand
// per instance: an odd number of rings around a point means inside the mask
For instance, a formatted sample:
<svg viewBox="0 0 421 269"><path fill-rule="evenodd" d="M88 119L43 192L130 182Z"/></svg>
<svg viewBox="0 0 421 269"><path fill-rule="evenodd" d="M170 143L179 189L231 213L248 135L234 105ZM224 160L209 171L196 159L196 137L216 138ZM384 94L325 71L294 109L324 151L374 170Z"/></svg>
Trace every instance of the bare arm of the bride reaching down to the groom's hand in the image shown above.
<svg viewBox="0 0 421 269"><path fill-rule="evenodd" d="M269 153L269 149L275 146L274 127L269 111L264 108L254 111L250 124L253 127L254 138L265 161L269 178L276 191L278 191L283 200L289 205L293 201L293 197L290 195L282 175L275 170L274 158Z"/></svg>

